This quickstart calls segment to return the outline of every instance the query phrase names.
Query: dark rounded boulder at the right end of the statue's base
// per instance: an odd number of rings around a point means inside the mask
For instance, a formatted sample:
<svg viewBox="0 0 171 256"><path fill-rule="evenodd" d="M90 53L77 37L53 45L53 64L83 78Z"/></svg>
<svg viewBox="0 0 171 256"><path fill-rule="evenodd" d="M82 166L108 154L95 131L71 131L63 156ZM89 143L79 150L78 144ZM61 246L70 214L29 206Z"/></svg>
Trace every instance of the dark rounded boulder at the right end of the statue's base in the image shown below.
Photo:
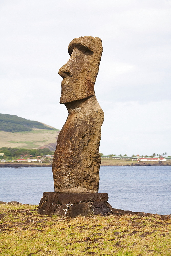
<svg viewBox="0 0 171 256"><path fill-rule="evenodd" d="M106 202L93 202L91 210L95 215L97 214L107 214L112 212L112 206Z"/></svg>

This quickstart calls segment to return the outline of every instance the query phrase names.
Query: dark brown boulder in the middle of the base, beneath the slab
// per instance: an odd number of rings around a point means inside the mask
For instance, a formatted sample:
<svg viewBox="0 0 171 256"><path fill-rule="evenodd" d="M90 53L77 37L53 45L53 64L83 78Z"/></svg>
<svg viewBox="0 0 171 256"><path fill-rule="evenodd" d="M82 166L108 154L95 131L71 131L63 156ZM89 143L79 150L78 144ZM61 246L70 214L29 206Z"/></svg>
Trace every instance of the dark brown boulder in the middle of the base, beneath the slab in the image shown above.
<svg viewBox="0 0 171 256"><path fill-rule="evenodd" d="M68 210L67 217L76 217L76 216L90 216L93 215L90 204L89 203L80 203L80 204L73 204Z"/></svg>

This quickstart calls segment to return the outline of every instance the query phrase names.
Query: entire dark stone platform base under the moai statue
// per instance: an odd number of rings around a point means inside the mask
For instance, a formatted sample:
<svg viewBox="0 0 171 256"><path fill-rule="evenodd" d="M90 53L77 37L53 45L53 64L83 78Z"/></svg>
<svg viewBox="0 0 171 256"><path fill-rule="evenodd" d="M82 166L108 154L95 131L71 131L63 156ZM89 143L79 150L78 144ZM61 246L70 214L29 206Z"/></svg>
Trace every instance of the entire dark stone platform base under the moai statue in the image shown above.
<svg viewBox="0 0 171 256"><path fill-rule="evenodd" d="M61 217L107 215L112 206L107 193L57 193L44 192L38 206L39 214L56 214Z"/></svg>

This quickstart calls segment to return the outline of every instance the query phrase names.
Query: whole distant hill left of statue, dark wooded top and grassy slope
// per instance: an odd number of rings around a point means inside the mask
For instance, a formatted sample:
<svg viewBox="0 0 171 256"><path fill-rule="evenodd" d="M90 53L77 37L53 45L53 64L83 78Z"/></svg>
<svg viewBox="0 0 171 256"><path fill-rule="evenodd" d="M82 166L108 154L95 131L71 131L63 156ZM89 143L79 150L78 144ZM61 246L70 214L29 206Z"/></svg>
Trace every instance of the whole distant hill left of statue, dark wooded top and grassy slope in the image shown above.
<svg viewBox="0 0 171 256"><path fill-rule="evenodd" d="M49 125L0 114L0 148L49 148L54 151L60 130Z"/></svg>

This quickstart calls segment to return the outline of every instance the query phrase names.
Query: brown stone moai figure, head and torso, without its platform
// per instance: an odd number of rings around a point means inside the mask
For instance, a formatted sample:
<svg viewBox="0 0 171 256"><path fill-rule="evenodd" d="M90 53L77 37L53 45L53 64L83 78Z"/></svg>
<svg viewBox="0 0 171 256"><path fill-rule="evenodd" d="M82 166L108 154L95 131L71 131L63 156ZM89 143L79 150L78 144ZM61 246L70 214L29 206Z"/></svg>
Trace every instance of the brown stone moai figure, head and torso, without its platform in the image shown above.
<svg viewBox="0 0 171 256"><path fill-rule="evenodd" d="M55 192L97 193L101 158L99 143L104 113L94 95L102 44L100 38L80 37L68 47L60 103L68 118L57 141L52 171Z"/></svg>

